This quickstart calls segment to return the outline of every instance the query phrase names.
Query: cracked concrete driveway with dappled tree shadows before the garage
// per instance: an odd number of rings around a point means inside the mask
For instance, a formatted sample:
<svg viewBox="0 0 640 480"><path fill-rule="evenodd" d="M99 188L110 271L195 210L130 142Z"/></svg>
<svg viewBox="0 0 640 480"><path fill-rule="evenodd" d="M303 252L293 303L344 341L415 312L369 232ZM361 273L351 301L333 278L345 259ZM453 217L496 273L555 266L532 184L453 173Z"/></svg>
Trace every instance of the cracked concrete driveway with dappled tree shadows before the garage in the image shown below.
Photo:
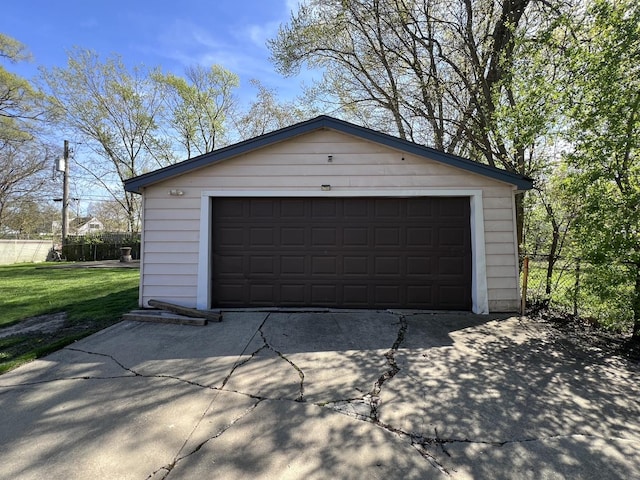
<svg viewBox="0 0 640 480"><path fill-rule="evenodd" d="M516 317L123 322L0 376L0 477L640 478L639 379Z"/></svg>

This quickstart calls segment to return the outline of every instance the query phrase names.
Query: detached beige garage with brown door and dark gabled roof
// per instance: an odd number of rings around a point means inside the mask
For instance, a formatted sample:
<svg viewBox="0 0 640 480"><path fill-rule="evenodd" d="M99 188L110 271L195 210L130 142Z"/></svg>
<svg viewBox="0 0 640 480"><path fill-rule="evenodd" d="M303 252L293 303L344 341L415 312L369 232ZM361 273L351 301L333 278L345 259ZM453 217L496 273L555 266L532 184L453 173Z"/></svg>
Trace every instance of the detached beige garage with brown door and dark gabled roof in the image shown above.
<svg viewBox="0 0 640 480"><path fill-rule="evenodd" d="M321 116L125 183L140 303L513 311L518 175Z"/></svg>

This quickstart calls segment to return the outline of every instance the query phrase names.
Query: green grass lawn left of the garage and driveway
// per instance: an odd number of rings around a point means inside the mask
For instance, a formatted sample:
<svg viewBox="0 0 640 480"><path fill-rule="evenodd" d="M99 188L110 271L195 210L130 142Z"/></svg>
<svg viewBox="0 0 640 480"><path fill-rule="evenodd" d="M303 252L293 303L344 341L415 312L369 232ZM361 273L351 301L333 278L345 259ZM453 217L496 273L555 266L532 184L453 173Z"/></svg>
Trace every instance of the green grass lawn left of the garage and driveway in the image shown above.
<svg viewBox="0 0 640 480"><path fill-rule="evenodd" d="M64 327L55 333L0 338L0 373L120 321L138 304L139 280L139 270L131 268L0 266L0 328L29 317L67 313Z"/></svg>

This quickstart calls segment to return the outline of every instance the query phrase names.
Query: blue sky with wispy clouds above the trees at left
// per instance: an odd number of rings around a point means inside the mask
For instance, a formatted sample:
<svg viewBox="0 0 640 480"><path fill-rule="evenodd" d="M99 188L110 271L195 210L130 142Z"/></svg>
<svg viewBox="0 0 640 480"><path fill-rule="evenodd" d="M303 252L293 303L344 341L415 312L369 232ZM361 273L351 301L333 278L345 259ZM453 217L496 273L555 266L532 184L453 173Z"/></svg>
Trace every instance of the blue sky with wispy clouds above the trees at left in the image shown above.
<svg viewBox="0 0 640 480"><path fill-rule="evenodd" d="M250 99L251 78L284 98L300 91L302 77L274 71L265 46L289 19L298 0L9 0L0 32L24 43L29 65L6 65L27 78L38 66L64 67L74 46L116 53L129 66L143 63L182 74L184 67L220 64L240 77L240 95ZM307 75L307 81L310 75Z"/></svg>

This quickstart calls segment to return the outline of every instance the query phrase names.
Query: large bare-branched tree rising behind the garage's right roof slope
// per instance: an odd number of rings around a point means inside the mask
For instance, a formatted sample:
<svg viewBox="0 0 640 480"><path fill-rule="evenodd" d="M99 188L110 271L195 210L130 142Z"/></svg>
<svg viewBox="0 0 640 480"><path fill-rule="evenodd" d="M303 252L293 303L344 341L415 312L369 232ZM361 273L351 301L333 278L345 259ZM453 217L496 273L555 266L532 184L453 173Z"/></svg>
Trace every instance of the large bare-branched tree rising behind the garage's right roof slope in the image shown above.
<svg viewBox="0 0 640 480"><path fill-rule="evenodd" d="M365 125L532 175L557 18L536 0L307 0L269 45L286 75L323 69L326 94Z"/></svg>

